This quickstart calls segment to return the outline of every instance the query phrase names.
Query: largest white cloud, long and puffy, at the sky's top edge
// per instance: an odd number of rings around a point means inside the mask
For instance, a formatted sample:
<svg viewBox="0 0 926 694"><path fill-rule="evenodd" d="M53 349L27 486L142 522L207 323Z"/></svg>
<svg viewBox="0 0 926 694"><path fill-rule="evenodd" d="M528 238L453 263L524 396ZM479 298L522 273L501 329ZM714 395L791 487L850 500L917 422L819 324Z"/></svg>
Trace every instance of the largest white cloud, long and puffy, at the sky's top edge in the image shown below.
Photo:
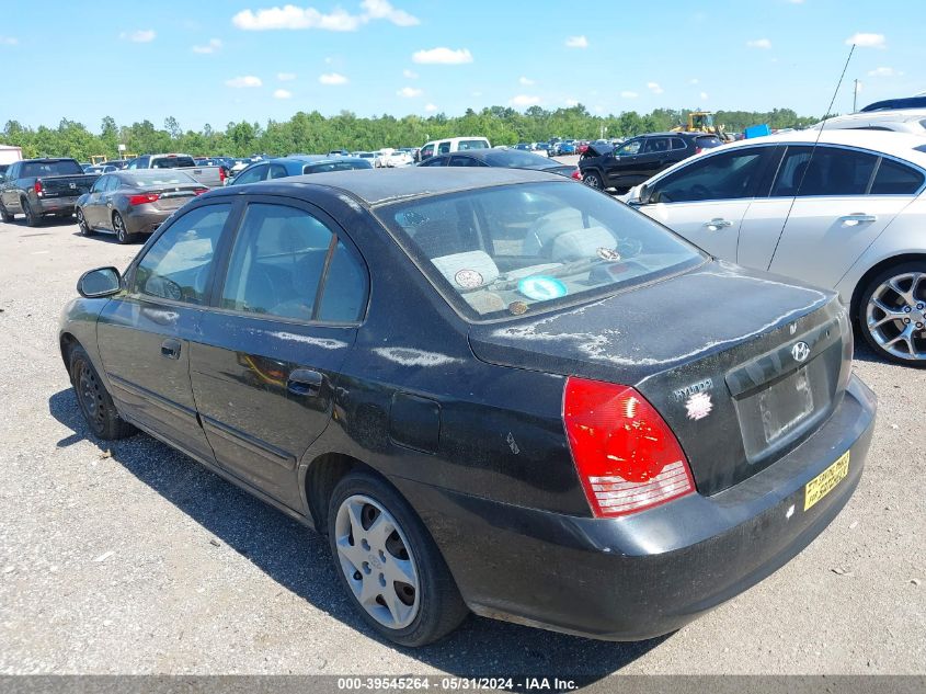
<svg viewBox="0 0 926 694"><path fill-rule="evenodd" d="M282 8L262 10L242 10L231 18L232 24L245 31L266 31L273 29L320 29L329 32L355 32L367 22L385 20L398 26L414 26L421 22L404 10L397 10L387 0L364 0L363 12L351 14L342 8L331 12L319 12L315 8L300 8L285 4Z"/></svg>

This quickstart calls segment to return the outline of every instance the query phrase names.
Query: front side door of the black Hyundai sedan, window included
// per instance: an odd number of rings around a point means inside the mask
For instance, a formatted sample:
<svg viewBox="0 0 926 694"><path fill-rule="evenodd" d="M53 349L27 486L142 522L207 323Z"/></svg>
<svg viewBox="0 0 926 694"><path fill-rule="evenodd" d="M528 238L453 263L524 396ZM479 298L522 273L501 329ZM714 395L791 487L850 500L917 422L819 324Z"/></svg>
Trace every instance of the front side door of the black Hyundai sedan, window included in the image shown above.
<svg viewBox="0 0 926 694"><path fill-rule="evenodd" d="M164 227L129 269L128 289L103 308L96 334L119 412L212 462L190 385L190 341L208 299L230 203L195 207Z"/></svg>

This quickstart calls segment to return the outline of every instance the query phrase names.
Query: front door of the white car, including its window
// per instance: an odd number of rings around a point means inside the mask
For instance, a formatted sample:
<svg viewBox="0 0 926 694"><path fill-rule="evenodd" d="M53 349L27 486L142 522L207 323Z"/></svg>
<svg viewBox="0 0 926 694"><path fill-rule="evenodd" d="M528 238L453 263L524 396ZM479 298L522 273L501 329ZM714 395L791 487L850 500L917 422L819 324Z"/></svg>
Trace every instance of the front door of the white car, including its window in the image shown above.
<svg viewBox="0 0 926 694"><path fill-rule="evenodd" d="M775 152L742 147L705 156L650 184L640 211L707 252L736 261L740 226Z"/></svg>

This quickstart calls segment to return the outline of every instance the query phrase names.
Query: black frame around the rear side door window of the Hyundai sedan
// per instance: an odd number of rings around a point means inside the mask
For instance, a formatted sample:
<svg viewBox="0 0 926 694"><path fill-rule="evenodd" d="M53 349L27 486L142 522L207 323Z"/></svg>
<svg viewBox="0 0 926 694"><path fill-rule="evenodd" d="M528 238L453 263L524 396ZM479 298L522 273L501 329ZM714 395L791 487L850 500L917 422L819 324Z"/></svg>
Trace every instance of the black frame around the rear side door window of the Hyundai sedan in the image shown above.
<svg viewBox="0 0 926 694"><path fill-rule="evenodd" d="M239 316L242 318L250 318L254 320L265 320L271 322L282 322L296 326L323 328L356 328L366 322L367 316L369 314L369 299L373 294L370 287L369 265L367 264L363 253L361 253L356 243L354 243L354 240L350 237L344 227L338 224L338 221L331 215L329 215L318 205L315 205L298 197L289 197L286 195L267 195L265 193L243 195L236 201L236 204L238 205L238 215L235 220L235 226L231 229L225 229L222 232L224 238L227 242L224 244L224 247L220 247L220 250L222 251L220 257L219 253L216 252L217 264L214 276L210 278L212 286L208 295L209 300L201 308L204 308L212 312L222 314L227 316ZM277 205L283 207L293 207L296 209L301 209L302 212L306 212L309 215L316 217L328 228L329 231L331 231L331 242L329 243L328 253L324 258L322 274L319 277L319 288L316 292L316 300L312 305L311 320L287 318L284 316L274 316L271 314L254 314L251 311L242 311L237 308L226 308L220 305L221 291L225 288L225 283L228 280L228 270L231 264L231 253L235 249L235 242L238 240L238 237L241 234L241 228L244 224L245 213L248 212L249 205ZM347 252L351 253L354 257L354 260L359 263L364 278L365 296L363 300L363 310L361 311L359 317L355 321L339 322L332 320L317 320L315 318L316 316L318 316L318 311L321 309L321 298L324 296L324 289L328 284L328 270L329 265L331 264L331 259L334 257L334 251L338 248L338 241L343 242Z"/></svg>

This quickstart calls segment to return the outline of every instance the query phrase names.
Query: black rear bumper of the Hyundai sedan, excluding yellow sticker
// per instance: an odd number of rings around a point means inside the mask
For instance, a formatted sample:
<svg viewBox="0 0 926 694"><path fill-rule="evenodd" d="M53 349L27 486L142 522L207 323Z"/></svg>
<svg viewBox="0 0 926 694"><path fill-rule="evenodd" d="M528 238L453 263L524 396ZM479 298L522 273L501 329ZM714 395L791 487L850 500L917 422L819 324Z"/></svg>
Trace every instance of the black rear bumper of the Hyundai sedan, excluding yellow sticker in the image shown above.
<svg viewBox="0 0 926 694"><path fill-rule="evenodd" d="M712 497L625 519L567 516L393 480L428 526L477 614L613 640L667 634L758 583L851 497L874 424L853 378L798 448ZM804 486L850 451L848 476L804 511Z"/></svg>

